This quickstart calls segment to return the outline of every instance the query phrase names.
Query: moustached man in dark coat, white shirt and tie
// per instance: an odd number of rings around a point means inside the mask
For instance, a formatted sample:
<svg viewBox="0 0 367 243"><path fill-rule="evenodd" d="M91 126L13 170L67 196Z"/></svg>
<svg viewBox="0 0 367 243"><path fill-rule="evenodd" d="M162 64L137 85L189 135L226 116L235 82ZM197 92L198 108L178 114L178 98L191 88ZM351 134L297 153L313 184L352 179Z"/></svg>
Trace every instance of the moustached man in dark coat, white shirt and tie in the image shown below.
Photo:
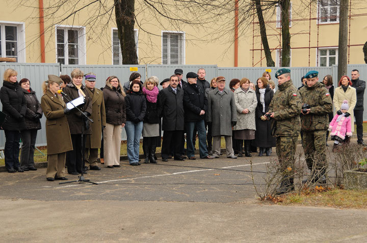
<svg viewBox="0 0 367 243"><path fill-rule="evenodd" d="M178 77L170 77L170 85L161 90L159 94L160 107L162 109L163 142L162 161L167 161L171 145L174 147L174 159L185 160L181 156L183 146L181 139L183 135L183 90L178 86Z"/></svg>

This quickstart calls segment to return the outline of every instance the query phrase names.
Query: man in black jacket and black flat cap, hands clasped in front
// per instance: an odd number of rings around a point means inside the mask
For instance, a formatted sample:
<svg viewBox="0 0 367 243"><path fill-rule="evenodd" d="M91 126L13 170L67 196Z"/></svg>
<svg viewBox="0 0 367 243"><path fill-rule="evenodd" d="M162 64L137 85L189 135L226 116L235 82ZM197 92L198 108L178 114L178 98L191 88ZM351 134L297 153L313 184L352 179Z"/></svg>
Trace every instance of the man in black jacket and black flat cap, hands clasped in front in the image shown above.
<svg viewBox="0 0 367 243"><path fill-rule="evenodd" d="M197 85L198 75L194 72L186 74L188 85L183 89L183 108L185 110L186 144L189 160L195 160L194 151L194 129L197 128L199 136L200 159L213 159L208 155L206 148L206 129L204 124L205 112L207 110L207 99L202 86ZM196 133L195 133L196 135Z"/></svg>

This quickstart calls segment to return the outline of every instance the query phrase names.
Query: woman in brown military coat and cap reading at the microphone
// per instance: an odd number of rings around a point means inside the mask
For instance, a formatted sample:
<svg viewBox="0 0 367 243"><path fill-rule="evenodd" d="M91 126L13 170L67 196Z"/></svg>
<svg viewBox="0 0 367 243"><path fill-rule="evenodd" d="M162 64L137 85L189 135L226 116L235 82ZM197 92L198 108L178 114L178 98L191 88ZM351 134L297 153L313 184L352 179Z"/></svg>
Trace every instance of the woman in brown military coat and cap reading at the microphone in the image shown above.
<svg viewBox="0 0 367 243"><path fill-rule="evenodd" d="M48 75L43 82L42 111L46 117L47 171L48 181L67 180L64 176L66 152L72 150L69 124L63 99L57 94L63 81L56 75ZM56 142L58 141L58 142Z"/></svg>

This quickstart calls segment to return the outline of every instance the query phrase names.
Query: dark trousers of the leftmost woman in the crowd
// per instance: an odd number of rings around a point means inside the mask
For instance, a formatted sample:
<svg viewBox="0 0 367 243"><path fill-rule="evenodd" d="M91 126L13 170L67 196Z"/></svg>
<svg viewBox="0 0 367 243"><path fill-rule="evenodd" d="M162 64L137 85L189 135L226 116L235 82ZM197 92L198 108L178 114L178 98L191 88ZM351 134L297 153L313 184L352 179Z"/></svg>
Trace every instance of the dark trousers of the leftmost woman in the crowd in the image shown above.
<svg viewBox="0 0 367 243"><path fill-rule="evenodd" d="M9 170L20 166L19 163L20 132L9 130L4 130L4 132L5 132L5 147L4 147L5 167Z"/></svg>

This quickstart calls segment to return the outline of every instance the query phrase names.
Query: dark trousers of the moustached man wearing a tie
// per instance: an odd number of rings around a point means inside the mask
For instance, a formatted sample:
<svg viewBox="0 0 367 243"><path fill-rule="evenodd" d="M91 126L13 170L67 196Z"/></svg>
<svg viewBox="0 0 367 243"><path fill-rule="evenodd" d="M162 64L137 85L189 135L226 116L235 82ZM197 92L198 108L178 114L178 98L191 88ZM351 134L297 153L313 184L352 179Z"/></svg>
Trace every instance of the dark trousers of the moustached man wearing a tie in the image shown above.
<svg viewBox="0 0 367 243"><path fill-rule="evenodd" d="M173 154L175 158L179 158L182 155L182 136L183 131L164 131L162 141L162 159L168 159L170 154L170 148L173 148Z"/></svg>

